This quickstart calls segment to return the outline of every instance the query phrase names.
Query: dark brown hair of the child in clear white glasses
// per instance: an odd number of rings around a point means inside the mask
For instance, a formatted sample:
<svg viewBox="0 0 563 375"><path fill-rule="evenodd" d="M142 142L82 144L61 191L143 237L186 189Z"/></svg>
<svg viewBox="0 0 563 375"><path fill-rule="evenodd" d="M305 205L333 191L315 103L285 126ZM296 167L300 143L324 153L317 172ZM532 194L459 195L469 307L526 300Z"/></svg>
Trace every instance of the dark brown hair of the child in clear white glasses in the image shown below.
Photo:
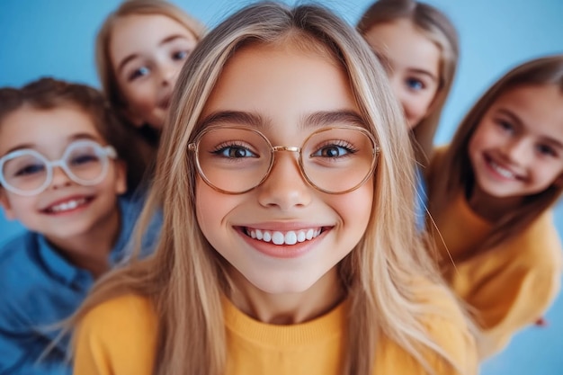
<svg viewBox="0 0 563 375"><path fill-rule="evenodd" d="M116 116L103 94L88 85L68 83L53 78L40 78L20 89L0 89L0 126L10 113L25 107L50 110L70 106L88 115L94 127L110 145L115 147L127 165L127 183L134 189L141 181L145 165L137 156L131 130Z"/></svg>

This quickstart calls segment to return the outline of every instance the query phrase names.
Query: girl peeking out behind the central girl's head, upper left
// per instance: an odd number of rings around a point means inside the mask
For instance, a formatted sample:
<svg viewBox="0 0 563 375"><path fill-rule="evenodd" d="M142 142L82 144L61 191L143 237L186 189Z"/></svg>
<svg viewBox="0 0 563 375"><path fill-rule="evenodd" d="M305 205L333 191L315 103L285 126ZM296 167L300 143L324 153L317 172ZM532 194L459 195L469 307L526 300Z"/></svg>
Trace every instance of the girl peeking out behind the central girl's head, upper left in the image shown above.
<svg viewBox="0 0 563 375"><path fill-rule="evenodd" d="M146 141L140 157L147 161L156 152L178 72L203 32L201 22L165 0L124 1L98 31L103 93Z"/></svg>

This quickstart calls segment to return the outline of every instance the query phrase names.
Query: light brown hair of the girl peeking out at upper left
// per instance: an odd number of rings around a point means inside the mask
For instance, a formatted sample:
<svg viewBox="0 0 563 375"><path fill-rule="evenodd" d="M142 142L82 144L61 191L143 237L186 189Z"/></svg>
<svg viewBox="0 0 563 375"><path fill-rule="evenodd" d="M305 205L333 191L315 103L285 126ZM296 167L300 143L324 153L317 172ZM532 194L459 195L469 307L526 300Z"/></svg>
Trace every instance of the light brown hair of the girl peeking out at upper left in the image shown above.
<svg viewBox="0 0 563 375"><path fill-rule="evenodd" d="M183 12L178 6L165 0L127 0L113 13L110 13L98 31L95 41L95 58L103 94L106 95L112 107L119 112L124 112L127 103L121 94L117 77L112 67L110 41L115 24L120 22L121 18L134 14L160 14L169 17L191 31L196 40L201 40L205 31L201 22L190 14Z"/></svg>

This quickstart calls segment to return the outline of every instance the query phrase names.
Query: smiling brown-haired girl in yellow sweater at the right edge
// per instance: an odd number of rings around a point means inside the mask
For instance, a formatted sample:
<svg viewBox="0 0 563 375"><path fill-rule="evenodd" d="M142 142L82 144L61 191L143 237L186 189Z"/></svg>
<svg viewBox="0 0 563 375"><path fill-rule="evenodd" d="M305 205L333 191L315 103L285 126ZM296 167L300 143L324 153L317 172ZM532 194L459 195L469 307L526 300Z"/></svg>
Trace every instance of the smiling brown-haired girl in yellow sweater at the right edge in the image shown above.
<svg viewBox="0 0 563 375"><path fill-rule="evenodd" d="M429 171L442 273L475 310L483 357L540 318L559 291L550 209L562 187L559 55L514 67L492 85Z"/></svg>

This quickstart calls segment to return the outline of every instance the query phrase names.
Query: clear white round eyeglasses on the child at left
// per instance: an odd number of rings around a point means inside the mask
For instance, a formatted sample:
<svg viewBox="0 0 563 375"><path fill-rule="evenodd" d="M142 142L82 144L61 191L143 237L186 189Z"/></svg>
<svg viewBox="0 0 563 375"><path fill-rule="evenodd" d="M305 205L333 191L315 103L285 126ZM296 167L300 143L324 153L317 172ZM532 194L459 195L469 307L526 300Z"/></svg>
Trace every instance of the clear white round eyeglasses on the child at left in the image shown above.
<svg viewBox="0 0 563 375"><path fill-rule="evenodd" d="M69 144L58 160L48 160L31 148L19 149L0 158L0 183L10 192L36 195L47 189L53 179L53 168L59 166L75 183L90 186L102 182L108 172L109 158L116 157L112 146L102 146L89 139Z"/></svg>

